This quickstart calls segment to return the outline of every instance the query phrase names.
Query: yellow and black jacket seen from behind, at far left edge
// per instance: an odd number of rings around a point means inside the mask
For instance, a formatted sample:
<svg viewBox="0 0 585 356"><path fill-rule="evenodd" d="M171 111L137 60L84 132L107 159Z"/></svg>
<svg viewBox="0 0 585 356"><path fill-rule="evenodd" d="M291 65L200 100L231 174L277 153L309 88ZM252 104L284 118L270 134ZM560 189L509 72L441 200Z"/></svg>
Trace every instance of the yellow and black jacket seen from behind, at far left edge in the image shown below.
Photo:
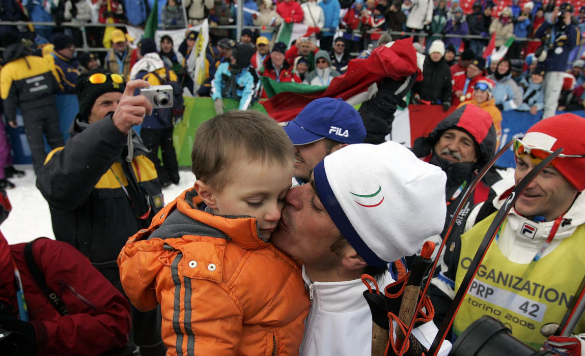
<svg viewBox="0 0 585 356"><path fill-rule="evenodd" d="M41 57L29 56L24 44L6 47L6 65L0 71L0 97L9 121L16 120L16 108L23 113L55 103L57 89L51 68Z"/></svg>

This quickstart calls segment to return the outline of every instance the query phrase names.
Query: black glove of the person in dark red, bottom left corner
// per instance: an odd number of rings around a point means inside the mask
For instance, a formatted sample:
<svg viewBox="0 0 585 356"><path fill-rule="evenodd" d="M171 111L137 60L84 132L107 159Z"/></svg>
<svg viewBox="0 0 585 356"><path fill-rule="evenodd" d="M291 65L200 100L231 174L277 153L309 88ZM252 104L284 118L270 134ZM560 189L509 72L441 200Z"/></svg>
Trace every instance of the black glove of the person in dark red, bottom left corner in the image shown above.
<svg viewBox="0 0 585 356"><path fill-rule="evenodd" d="M11 351L15 352L15 355L35 354L36 332L32 323L23 322L13 316L0 314L0 329L12 331L11 334L0 339L0 348L9 350L8 355L11 354Z"/></svg>

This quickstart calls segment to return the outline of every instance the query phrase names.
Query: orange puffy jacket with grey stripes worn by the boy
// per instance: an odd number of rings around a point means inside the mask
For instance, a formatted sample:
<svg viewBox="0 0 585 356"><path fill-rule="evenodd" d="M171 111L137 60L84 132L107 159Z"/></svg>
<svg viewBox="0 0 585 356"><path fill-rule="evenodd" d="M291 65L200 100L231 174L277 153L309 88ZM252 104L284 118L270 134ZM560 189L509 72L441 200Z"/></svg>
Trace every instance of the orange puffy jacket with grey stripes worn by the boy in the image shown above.
<svg viewBox="0 0 585 356"><path fill-rule="evenodd" d="M204 211L193 188L118 256L126 295L158 303L167 355L296 355L309 299L300 265L260 239L256 219Z"/></svg>

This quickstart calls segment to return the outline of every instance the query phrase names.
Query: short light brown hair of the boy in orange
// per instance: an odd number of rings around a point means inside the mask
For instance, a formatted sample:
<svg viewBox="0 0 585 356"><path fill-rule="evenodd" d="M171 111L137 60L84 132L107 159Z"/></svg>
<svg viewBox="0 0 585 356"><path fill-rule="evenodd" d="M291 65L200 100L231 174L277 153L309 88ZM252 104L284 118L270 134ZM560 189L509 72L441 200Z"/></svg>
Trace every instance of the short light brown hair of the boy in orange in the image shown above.
<svg viewBox="0 0 585 356"><path fill-rule="evenodd" d="M292 167L294 146L276 121L256 110L230 110L197 129L191 171L197 179L222 191L236 178L233 163L261 160Z"/></svg>

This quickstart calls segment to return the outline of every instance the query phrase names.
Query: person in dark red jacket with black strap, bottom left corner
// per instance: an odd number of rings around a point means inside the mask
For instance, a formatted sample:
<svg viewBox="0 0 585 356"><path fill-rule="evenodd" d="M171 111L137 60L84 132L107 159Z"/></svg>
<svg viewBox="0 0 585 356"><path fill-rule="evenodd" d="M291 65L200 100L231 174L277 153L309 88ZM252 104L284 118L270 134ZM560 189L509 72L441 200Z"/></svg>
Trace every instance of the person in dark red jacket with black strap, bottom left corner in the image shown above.
<svg viewBox="0 0 585 356"><path fill-rule="evenodd" d="M0 222L10 209L0 189ZM128 354L129 303L75 248L44 238L9 246L0 234L0 261L2 355Z"/></svg>

